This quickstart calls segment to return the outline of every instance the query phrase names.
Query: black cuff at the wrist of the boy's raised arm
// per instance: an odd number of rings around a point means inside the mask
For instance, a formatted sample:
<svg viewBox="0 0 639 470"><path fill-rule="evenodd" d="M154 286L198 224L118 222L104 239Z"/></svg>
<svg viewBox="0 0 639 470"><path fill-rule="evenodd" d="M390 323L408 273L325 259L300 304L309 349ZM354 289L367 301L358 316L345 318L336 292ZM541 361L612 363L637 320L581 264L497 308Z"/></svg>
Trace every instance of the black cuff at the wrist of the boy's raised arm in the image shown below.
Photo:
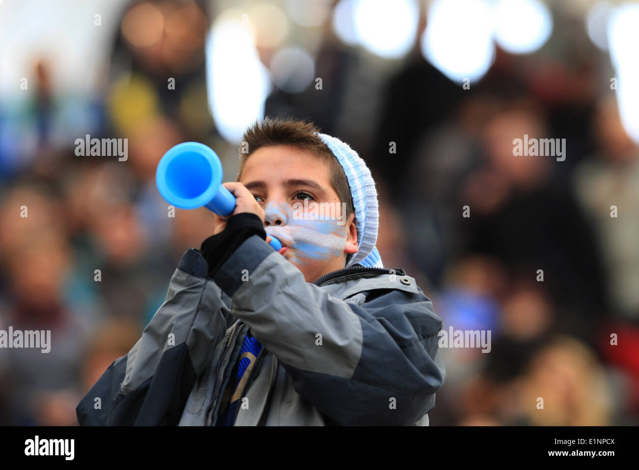
<svg viewBox="0 0 639 470"><path fill-rule="evenodd" d="M204 240L200 253L208 263L208 275L213 278L226 260L251 235L259 235L266 240L266 231L258 215L242 212L233 215L223 231Z"/></svg>

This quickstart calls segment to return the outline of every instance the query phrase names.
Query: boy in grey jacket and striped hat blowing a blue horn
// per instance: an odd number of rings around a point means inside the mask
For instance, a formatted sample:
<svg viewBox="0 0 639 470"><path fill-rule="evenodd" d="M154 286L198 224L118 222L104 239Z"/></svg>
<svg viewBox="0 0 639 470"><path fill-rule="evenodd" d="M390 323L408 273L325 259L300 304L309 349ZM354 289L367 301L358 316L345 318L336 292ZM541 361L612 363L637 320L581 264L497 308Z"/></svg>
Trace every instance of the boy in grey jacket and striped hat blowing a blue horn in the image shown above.
<svg viewBox="0 0 639 470"><path fill-rule="evenodd" d="M266 118L243 141L224 184L235 211L185 253L79 423L428 425L442 320L415 279L382 267L366 164L304 121Z"/></svg>

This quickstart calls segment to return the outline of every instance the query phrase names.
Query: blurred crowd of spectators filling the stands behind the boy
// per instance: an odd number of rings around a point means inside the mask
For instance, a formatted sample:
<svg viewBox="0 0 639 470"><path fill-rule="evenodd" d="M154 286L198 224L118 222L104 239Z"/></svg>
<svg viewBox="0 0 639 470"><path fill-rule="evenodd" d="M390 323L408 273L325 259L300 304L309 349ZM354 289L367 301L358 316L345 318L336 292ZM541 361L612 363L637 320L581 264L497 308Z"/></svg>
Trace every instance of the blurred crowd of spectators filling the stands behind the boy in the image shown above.
<svg viewBox="0 0 639 470"><path fill-rule="evenodd" d="M137 24L151 13L165 18L152 46ZM207 107L218 13L194 1L123 10L104 88L73 132L127 138L127 161L55 138L67 98L50 81L55 59L34 58L20 114L33 146L0 132L0 329L49 329L52 347L0 350L0 424L77 425L81 397L137 341L181 255L212 233L204 208L170 216L155 168L199 141L235 179L236 145ZM431 425L639 424L639 148L608 57L574 28L535 54L498 50L465 89L417 44L389 64L319 32L322 89L273 88L265 114L309 118L357 150L380 193L385 267L417 279L444 329L492 333L488 354L442 349ZM268 63L274 51L258 52ZM565 138L566 160L514 156L525 134Z"/></svg>

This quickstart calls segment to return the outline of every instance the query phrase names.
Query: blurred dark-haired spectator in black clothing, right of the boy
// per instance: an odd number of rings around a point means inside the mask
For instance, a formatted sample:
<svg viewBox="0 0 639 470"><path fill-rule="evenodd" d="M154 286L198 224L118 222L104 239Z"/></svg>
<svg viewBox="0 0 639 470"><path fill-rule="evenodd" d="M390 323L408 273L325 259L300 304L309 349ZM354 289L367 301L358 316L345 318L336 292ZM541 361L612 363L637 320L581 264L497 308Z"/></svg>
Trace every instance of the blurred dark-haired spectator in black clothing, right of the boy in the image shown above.
<svg viewBox="0 0 639 470"><path fill-rule="evenodd" d="M601 251L571 189L551 178L551 166L563 162L513 155L513 140L524 134L545 131L534 108L521 104L486 123L488 161L461 189L459 206L468 205L470 217L459 227L472 253L496 256L510 276L543 279L557 328L594 345L594 322L608 311Z"/></svg>

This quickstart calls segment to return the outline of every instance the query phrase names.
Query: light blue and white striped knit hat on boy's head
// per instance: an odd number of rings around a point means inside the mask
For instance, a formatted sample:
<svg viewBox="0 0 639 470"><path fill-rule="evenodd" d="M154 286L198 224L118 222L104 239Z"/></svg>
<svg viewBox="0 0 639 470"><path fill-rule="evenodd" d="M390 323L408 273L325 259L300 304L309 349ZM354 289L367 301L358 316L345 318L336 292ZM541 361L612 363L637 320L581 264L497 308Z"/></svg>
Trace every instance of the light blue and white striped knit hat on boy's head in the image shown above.
<svg viewBox="0 0 639 470"><path fill-rule="evenodd" d="M328 145L341 164L348 180L355 208L357 226L357 253L346 257L346 267L359 263L366 267L383 267L380 252L377 251L377 230L380 215L377 204L377 190L371 171L366 162L348 144L327 134L318 134Z"/></svg>

